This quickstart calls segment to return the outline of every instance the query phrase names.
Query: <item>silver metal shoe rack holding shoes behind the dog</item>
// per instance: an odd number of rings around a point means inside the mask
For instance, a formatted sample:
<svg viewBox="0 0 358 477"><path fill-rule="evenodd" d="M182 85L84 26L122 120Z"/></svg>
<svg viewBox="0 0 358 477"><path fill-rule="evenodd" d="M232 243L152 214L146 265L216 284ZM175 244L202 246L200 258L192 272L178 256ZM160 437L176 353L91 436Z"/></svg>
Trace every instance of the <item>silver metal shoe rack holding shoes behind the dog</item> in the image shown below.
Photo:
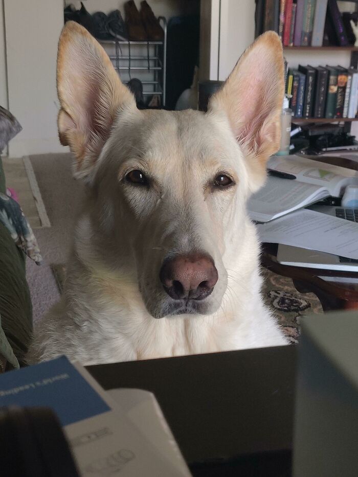
<svg viewBox="0 0 358 477"><path fill-rule="evenodd" d="M166 100L166 56L167 56L167 22L164 17L158 18L164 30L163 41L125 41L100 40L110 60L118 71L122 81L127 83L137 77L143 84L143 95L160 95L162 106ZM146 54L144 54L146 49Z"/></svg>

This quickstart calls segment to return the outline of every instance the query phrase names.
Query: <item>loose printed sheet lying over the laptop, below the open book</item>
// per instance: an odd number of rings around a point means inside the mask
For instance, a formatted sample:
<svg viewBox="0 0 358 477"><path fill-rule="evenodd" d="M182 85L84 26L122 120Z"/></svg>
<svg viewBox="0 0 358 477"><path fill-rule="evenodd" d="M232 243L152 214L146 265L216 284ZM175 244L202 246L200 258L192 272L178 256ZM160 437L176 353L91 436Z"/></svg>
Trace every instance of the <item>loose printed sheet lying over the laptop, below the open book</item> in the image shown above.
<svg viewBox="0 0 358 477"><path fill-rule="evenodd" d="M358 260L358 223L299 210L258 224L261 242L282 243Z"/></svg>

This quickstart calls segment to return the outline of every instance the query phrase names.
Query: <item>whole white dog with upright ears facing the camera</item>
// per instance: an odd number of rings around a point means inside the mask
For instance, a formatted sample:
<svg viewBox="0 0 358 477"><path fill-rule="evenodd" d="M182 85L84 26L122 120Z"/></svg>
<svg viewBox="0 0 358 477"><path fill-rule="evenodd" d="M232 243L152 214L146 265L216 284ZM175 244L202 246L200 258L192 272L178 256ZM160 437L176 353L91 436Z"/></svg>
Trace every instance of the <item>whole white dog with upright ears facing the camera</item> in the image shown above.
<svg viewBox="0 0 358 477"><path fill-rule="evenodd" d="M63 296L29 361L85 365L284 345L245 211L280 143L282 46L267 32L207 113L138 110L81 26L57 59L60 140L87 185Z"/></svg>

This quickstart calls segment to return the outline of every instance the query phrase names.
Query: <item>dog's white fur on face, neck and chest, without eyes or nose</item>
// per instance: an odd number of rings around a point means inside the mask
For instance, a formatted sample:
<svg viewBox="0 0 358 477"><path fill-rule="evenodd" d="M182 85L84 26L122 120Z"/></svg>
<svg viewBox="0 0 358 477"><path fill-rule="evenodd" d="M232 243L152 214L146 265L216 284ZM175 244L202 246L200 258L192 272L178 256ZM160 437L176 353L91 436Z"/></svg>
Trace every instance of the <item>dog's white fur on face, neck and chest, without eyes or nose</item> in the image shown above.
<svg viewBox="0 0 358 477"><path fill-rule="evenodd" d="M78 26L71 28L87 38ZM94 40L87 40L94 49ZM64 87L61 95L62 140L83 151L88 133L79 134L79 120L63 106ZM73 92L71 99L74 109ZM280 101L272 101L267 115L278 117ZM245 210L264 182L265 148L275 148L277 138L273 143L272 133L259 140L257 161L248 144L237 142L221 103L218 96L208 113L121 105L97 160L81 156L88 193L63 296L35 325L29 362L66 354L89 365L287 344L262 302L259 245ZM84 113L76 109L77 117ZM126 181L133 169L151 178L150 188ZM236 185L213 188L224 172ZM174 316L159 271L167 257L193 251L213 258L218 282L198 313Z"/></svg>

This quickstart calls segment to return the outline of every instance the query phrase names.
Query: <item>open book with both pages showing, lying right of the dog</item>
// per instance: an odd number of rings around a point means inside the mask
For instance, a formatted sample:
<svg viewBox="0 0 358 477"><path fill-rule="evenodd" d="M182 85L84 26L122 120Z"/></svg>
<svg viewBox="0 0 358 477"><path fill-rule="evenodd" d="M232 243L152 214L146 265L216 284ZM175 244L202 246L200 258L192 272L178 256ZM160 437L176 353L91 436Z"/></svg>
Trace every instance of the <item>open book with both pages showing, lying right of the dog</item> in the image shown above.
<svg viewBox="0 0 358 477"><path fill-rule="evenodd" d="M249 216L257 222L269 222L329 196L340 197L346 186L358 184L357 171L297 155L272 156L267 169L295 175L296 179L267 178L248 202Z"/></svg>

